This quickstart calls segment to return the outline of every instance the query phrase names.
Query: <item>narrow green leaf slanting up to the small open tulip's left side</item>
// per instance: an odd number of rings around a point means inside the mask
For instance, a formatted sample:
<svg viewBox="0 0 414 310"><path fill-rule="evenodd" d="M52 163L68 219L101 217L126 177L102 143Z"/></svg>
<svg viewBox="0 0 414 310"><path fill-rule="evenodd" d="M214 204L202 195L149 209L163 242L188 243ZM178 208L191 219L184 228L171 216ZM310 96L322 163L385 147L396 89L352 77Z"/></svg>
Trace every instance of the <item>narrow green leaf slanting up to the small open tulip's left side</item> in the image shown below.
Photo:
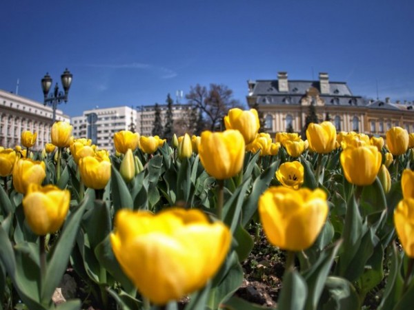
<svg viewBox="0 0 414 310"><path fill-rule="evenodd" d="M259 200L259 196L261 196L263 192L269 187L270 181L275 177L275 172L278 165L279 163L275 161L275 163L272 163L266 170L264 170L259 178L255 179L252 191L244 201L242 207L243 227L246 227L246 225L250 222L250 219L257 211L257 200Z"/></svg>

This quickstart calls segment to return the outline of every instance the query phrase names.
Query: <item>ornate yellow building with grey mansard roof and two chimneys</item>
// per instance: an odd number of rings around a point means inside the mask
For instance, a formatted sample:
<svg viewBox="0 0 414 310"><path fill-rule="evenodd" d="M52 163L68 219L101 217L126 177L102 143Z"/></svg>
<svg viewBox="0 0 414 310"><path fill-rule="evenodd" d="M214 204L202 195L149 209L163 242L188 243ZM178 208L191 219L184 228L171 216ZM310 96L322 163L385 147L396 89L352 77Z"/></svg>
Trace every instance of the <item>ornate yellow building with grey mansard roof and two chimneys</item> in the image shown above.
<svg viewBox="0 0 414 310"><path fill-rule="evenodd" d="M319 81L288 81L288 74L279 72L277 80L248 81L248 90L248 105L258 105L270 134L289 128L302 132L311 104L319 121L329 119L338 132L384 136L393 126L414 132L412 103L366 100L345 82L329 81L327 73L319 73Z"/></svg>

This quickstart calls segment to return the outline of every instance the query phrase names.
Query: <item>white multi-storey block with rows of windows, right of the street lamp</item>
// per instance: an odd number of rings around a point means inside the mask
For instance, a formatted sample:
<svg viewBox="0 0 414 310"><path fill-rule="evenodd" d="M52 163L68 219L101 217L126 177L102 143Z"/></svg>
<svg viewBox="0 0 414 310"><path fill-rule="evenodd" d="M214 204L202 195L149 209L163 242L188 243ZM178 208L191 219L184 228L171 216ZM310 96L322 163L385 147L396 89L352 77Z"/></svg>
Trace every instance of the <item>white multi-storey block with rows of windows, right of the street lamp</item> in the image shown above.
<svg viewBox="0 0 414 310"><path fill-rule="evenodd" d="M107 107L83 111L71 118L73 136L90 138L101 149L114 152L113 136L121 130L137 130L137 112L131 107Z"/></svg>

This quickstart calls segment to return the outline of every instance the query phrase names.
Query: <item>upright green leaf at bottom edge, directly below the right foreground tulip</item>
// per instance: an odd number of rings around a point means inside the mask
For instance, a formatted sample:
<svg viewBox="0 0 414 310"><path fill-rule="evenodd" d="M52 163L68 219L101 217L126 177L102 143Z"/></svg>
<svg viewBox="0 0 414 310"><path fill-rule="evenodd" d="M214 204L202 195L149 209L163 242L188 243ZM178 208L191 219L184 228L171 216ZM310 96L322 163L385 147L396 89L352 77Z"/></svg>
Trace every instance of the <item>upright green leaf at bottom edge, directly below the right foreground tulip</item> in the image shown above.
<svg viewBox="0 0 414 310"><path fill-rule="evenodd" d="M277 300L277 308L302 310L306 304L308 288L306 282L295 270L288 270L283 276L283 287Z"/></svg>

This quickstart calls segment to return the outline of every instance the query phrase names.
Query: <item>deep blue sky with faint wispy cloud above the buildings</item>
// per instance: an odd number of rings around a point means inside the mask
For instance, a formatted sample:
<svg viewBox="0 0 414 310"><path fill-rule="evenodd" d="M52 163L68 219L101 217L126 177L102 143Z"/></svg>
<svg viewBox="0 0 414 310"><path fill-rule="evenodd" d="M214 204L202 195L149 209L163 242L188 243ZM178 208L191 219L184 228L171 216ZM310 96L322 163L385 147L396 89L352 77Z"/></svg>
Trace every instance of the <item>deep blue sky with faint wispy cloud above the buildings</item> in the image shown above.
<svg viewBox="0 0 414 310"><path fill-rule="evenodd" d="M69 116L165 103L248 79L345 81L353 94L414 100L412 0L2 1L0 89L43 102L40 80L68 68ZM181 102L185 102L183 99Z"/></svg>

